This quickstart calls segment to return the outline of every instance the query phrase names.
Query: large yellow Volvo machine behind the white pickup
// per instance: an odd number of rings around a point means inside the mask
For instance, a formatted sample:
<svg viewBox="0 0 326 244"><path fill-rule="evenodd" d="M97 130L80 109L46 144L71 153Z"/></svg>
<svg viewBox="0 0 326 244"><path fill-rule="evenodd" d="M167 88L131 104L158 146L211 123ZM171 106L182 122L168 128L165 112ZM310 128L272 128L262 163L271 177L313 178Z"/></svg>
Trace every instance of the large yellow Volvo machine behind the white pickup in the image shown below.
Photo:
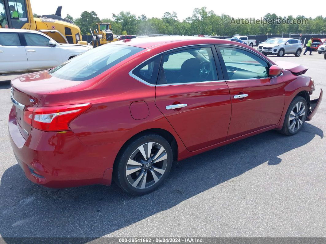
<svg viewBox="0 0 326 244"><path fill-rule="evenodd" d="M87 45L79 27L62 18L61 9L59 6L55 14L34 18L30 0L0 0L0 28L37 30L59 43Z"/></svg>

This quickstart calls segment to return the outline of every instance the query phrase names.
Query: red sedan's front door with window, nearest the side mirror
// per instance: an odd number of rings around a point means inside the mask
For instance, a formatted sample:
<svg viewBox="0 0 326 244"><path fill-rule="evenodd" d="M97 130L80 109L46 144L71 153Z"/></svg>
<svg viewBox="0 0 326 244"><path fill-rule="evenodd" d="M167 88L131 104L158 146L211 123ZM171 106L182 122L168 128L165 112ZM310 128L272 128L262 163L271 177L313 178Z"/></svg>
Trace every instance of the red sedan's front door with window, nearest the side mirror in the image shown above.
<svg viewBox="0 0 326 244"><path fill-rule="evenodd" d="M284 107L282 78L269 77L269 62L251 50L227 45L219 50L232 103L227 139L277 124Z"/></svg>

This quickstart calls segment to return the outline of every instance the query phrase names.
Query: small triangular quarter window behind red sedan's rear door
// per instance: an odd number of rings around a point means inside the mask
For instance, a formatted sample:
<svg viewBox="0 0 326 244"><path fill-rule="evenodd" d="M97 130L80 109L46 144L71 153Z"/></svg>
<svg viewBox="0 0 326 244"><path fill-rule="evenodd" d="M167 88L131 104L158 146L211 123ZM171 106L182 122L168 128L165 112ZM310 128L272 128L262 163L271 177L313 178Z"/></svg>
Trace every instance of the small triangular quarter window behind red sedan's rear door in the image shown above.
<svg viewBox="0 0 326 244"><path fill-rule="evenodd" d="M138 67L136 67L132 74L138 78L155 85L158 75L158 69L161 62L161 55L157 55L154 58L147 60Z"/></svg>

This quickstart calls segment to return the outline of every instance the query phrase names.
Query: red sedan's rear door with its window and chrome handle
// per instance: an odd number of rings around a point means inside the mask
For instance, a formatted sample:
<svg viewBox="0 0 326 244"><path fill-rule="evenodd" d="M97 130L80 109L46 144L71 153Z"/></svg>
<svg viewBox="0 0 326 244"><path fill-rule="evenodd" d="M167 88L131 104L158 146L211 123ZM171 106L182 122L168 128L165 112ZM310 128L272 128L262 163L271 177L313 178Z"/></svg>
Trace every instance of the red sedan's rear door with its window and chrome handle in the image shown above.
<svg viewBox="0 0 326 244"><path fill-rule="evenodd" d="M227 136L230 93L215 55L214 46L206 45L173 50L162 57L155 103L189 151Z"/></svg>

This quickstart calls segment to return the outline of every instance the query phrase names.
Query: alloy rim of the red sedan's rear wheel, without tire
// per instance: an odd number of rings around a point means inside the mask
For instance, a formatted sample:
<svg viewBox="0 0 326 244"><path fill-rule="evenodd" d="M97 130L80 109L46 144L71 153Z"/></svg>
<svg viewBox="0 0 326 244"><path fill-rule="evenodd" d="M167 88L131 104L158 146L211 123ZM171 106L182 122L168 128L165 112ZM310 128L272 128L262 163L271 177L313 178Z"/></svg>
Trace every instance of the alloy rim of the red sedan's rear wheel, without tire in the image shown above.
<svg viewBox="0 0 326 244"><path fill-rule="evenodd" d="M145 189L156 184L165 173L168 155L158 143L148 142L138 147L126 166L126 177L131 186Z"/></svg>

